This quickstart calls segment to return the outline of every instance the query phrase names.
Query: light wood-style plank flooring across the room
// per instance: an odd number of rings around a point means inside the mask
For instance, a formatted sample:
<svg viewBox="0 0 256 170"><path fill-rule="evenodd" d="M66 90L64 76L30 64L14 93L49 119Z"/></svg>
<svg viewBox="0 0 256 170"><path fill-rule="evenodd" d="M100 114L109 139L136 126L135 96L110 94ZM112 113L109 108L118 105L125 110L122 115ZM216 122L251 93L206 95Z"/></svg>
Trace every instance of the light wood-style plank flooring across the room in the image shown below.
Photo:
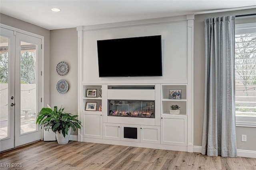
<svg viewBox="0 0 256 170"><path fill-rule="evenodd" d="M36 142L1 153L0 162L1 170L256 170L255 158L75 141Z"/></svg>

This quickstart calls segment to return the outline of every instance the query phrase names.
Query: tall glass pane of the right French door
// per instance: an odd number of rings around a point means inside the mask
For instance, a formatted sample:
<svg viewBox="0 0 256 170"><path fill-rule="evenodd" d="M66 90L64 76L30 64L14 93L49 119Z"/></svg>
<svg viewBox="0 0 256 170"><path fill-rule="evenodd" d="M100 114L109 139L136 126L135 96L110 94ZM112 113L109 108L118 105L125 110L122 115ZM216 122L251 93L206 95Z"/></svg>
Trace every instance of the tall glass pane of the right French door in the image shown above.
<svg viewBox="0 0 256 170"><path fill-rule="evenodd" d="M20 134L36 131L36 45L20 42Z"/></svg>

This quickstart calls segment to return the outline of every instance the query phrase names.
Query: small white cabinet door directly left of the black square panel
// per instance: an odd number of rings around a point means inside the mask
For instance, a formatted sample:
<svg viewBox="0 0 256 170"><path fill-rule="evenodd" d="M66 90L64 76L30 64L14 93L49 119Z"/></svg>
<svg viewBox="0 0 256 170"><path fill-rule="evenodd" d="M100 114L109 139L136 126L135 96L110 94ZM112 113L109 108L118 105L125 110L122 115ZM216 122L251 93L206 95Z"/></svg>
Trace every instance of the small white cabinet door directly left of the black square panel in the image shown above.
<svg viewBox="0 0 256 170"><path fill-rule="evenodd" d="M121 140L121 124L104 123L103 138L109 140Z"/></svg>

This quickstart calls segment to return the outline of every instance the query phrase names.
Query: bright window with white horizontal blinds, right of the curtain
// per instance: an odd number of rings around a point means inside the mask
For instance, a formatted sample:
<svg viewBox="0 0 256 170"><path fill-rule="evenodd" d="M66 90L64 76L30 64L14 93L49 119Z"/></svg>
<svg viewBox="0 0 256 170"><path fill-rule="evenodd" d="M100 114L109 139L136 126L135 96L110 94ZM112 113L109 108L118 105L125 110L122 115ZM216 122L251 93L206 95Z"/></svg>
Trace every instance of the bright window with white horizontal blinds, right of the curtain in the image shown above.
<svg viewBox="0 0 256 170"><path fill-rule="evenodd" d="M236 24L235 90L237 123L256 122L256 23Z"/></svg>

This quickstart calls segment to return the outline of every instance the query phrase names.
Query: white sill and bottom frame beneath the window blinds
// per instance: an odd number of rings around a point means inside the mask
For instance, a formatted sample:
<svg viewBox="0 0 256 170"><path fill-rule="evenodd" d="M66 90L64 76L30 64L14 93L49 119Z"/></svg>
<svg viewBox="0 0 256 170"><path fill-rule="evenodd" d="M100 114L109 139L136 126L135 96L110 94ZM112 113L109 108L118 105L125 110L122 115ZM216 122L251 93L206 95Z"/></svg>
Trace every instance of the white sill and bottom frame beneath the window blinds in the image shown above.
<svg viewBox="0 0 256 170"><path fill-rule="evenodd" d="M236 115L236 126L256 128L256 116Z"/></svg>

